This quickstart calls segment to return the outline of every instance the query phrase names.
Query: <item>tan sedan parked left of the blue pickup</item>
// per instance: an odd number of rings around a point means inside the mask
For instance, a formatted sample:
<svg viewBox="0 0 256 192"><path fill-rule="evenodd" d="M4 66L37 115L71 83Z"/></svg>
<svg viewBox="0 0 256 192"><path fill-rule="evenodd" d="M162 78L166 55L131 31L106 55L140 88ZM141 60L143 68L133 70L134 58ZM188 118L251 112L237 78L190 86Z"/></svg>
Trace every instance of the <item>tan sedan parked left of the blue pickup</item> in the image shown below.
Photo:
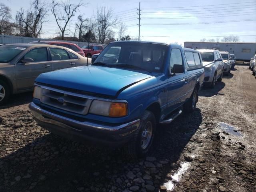
<svg viewBox="0 0 256 192"><path fill-rule="evenodd" d="M86 61L73 50L55 45L0 46L0 104L4 104L10 94L33 90L34 80L39 74L82 66Z"/></svg>

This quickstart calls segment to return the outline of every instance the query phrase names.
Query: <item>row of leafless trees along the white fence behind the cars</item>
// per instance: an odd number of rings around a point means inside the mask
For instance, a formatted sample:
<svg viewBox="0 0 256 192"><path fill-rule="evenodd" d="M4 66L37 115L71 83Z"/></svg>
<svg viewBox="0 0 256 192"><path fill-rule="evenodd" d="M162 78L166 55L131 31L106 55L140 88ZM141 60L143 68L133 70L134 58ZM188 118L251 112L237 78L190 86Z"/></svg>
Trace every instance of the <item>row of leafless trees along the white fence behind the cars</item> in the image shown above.
<svg viewBox="0 0 256 192"><path fill-rule="evenodd" d="M42 28L48 22L48 16L52 14L58 27L56 34L64 40L65 36L72 36L73 40L82 42L106 43L115 40L131 40L126 34L127 27L118 16L115 16L114 9L105 4L98 7L93 18L87 18L84 14L77 16L75 28L71 29L72 23L79 9L86 6L82 0L78 4L67 0L52 0L47 3L44 0L33 0L30 8L17 11L15 20L12 20L11 9L0 3L0 34L41 38L44 34ZM118 29L118 32L114 32ZM115 38L118 36L117 38Z"/></svg>

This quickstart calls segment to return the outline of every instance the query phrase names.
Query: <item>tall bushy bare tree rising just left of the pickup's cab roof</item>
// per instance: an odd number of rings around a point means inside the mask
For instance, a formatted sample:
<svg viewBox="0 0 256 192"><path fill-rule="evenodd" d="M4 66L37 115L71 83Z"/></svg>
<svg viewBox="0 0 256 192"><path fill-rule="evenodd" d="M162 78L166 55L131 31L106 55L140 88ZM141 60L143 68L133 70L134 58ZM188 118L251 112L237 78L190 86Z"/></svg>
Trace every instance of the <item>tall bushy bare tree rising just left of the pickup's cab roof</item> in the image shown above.
<svg viewBox="0 0 256 192"><path fill-rule="evenodd" d="M116 26L118 18L113 15L113 8L106 8L106 5L102 5L101 7L97 8L94 18L98 33L98 42L104 43L106 37L111 31L111 28Z"/></svg>

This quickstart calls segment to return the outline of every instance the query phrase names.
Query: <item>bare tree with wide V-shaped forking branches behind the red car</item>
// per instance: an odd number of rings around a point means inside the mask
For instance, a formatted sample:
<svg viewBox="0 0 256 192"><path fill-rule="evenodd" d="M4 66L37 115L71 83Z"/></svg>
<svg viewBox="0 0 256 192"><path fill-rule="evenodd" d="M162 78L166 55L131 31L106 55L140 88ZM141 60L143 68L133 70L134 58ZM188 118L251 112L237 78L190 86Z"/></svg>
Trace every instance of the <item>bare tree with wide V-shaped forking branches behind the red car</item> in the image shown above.
<svg viewBox="0 0 256 192"><path fill-rule="evenodd" d="M56 2L55 0L52 0L52 14L54 15L54 18L56 20L56 23L60 29L62 40L64 40L64 33L67 30L67 25L70 19L75 16L76 11L79 9L79 7L84 6L82 1L78 4L72 4L70 1L61 1Z"/></svg>

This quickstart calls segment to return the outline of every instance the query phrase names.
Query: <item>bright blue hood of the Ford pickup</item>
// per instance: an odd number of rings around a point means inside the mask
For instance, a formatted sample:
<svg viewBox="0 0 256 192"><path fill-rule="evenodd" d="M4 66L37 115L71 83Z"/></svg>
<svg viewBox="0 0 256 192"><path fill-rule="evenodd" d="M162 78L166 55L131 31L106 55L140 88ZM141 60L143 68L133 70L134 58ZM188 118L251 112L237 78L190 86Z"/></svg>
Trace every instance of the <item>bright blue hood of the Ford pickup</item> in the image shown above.
<svg viewBox="0 0 256 192"><path fill-rule="evenodd" d="M103 66L81 66L43 73L36 82L117 96L118 91L152 76Z"/></svg>

